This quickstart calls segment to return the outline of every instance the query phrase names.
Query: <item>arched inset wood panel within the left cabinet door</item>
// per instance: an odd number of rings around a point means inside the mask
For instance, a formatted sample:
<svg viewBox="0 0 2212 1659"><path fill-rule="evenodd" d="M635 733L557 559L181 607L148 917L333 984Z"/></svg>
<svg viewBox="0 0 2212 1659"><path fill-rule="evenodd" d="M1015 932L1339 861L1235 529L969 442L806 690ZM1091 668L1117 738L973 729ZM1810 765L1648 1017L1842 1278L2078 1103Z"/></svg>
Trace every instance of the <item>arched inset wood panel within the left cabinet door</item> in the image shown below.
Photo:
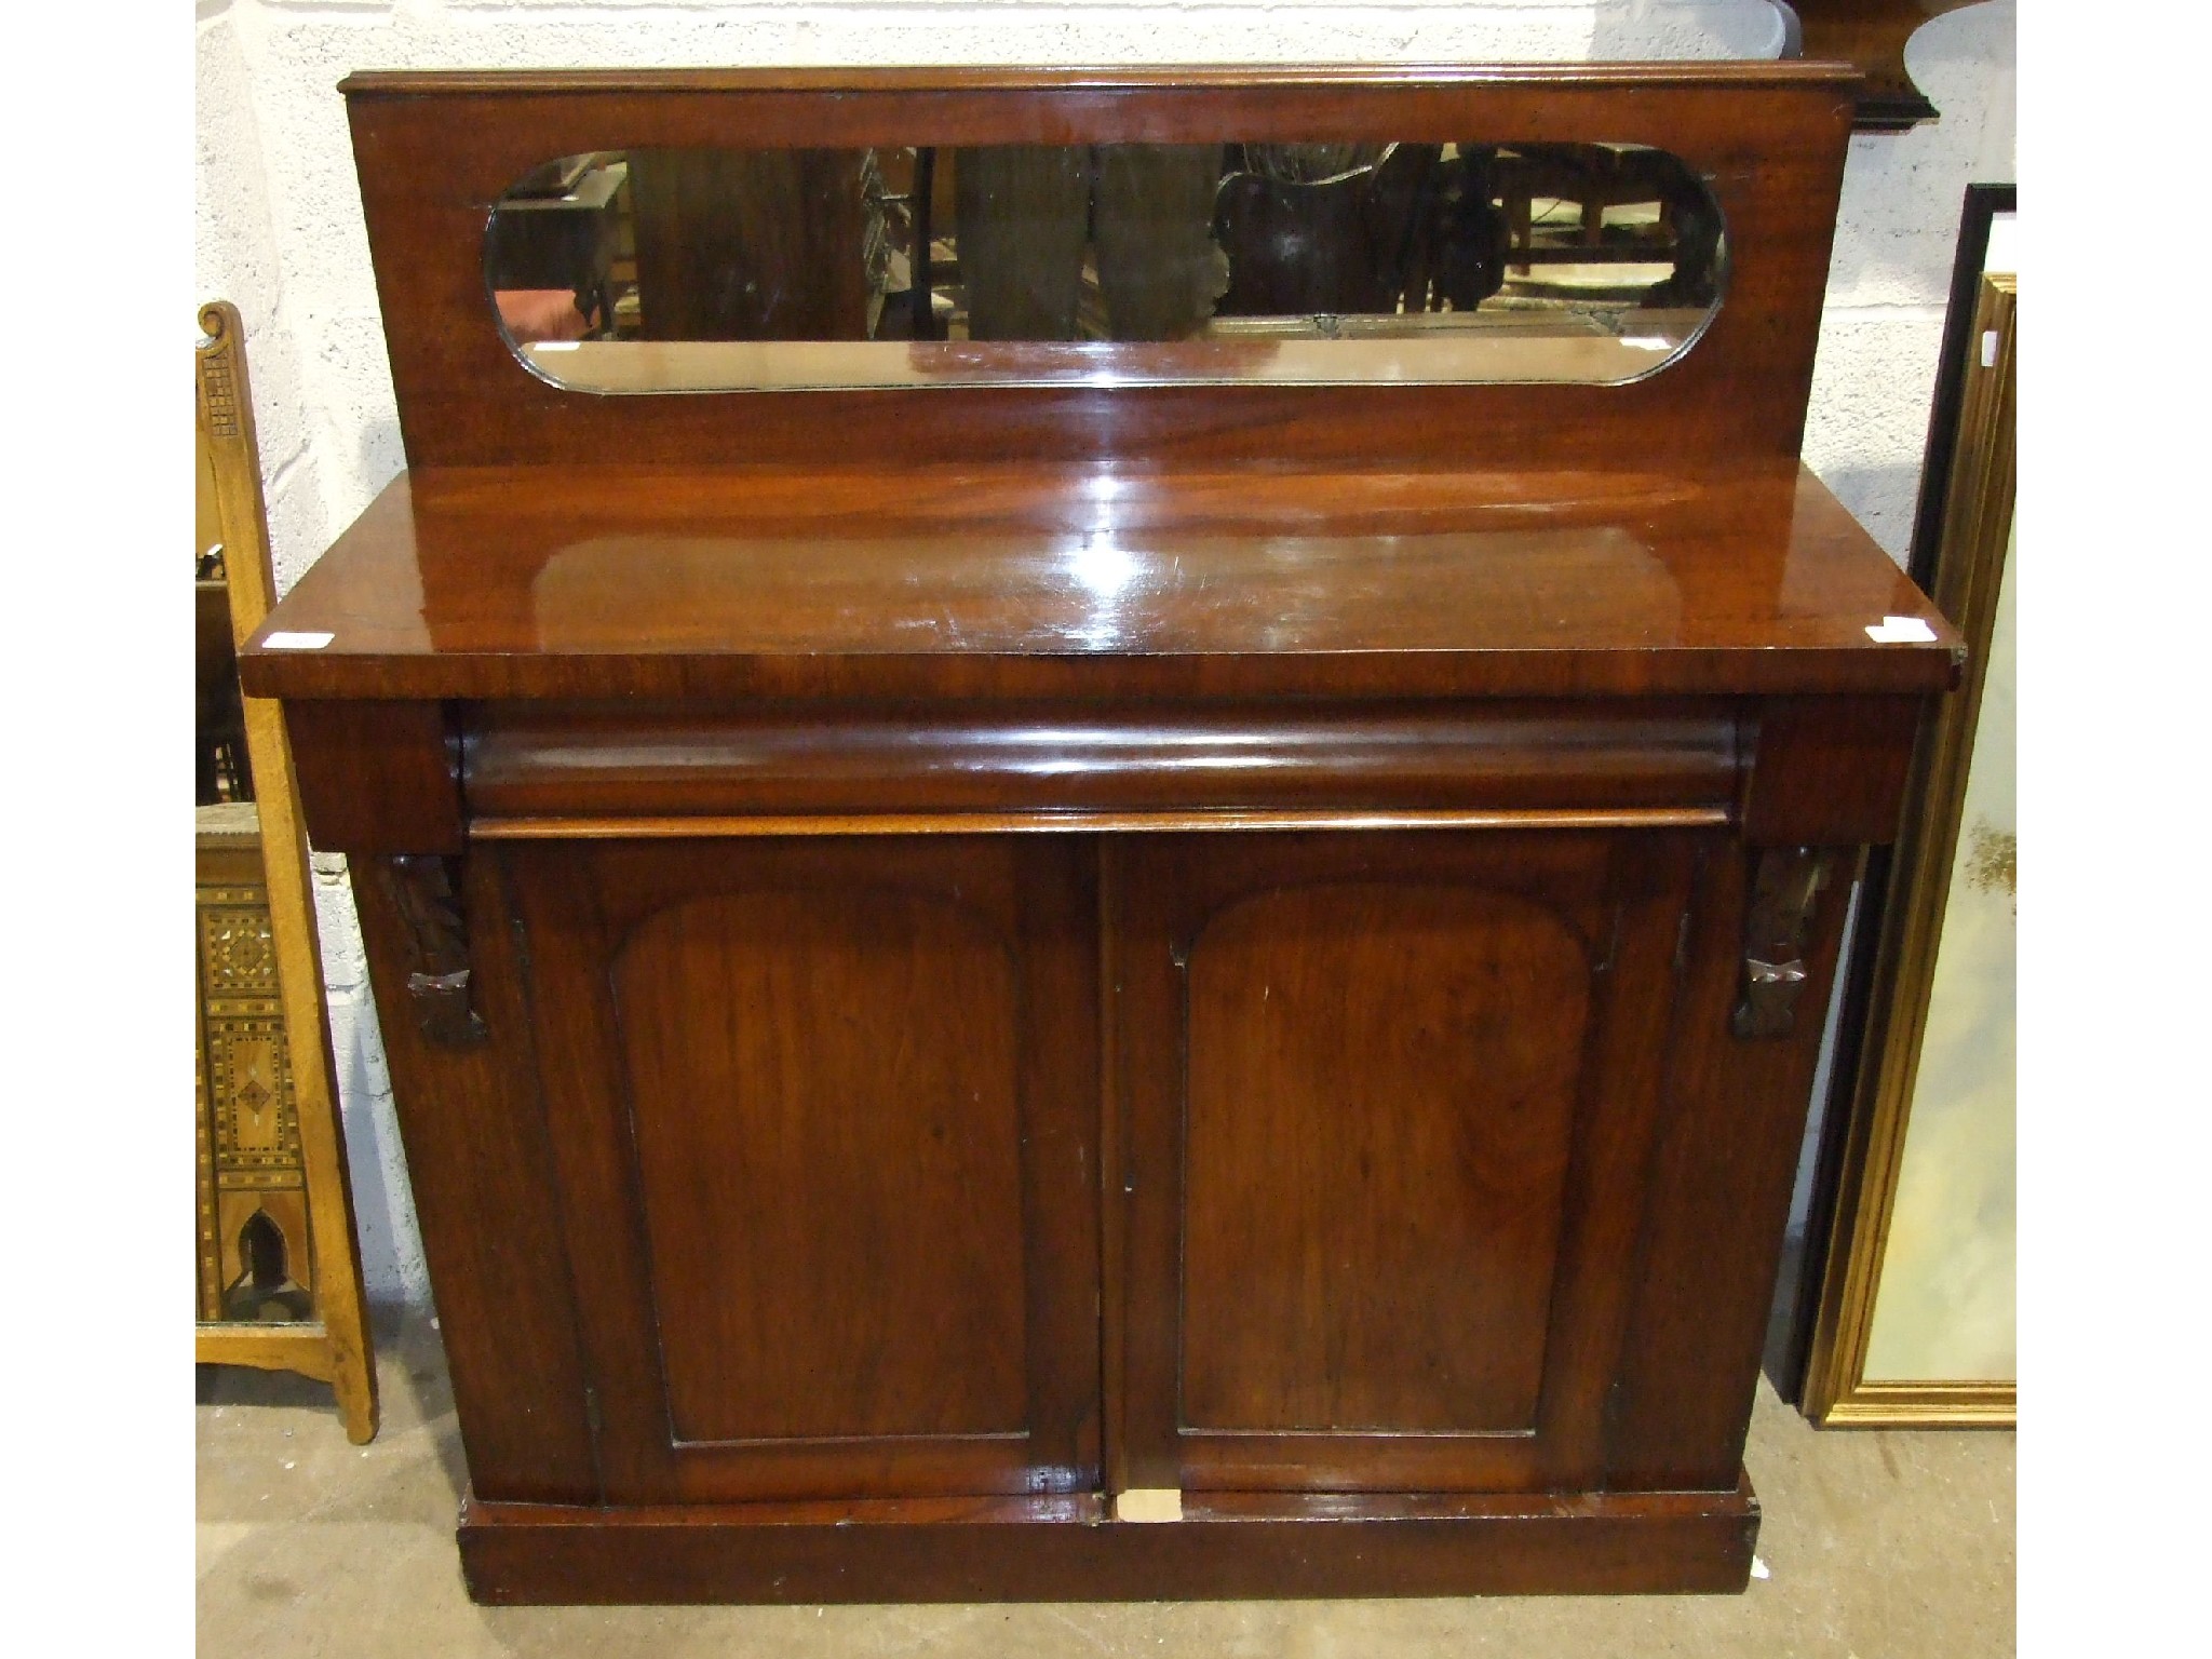
<svg viewBox="0 0 2212 1659"><path fill-rule="evenodd" d="M611 975L672 1436L1020 1433L1009 940L933 894L726 894Z"/></svg>

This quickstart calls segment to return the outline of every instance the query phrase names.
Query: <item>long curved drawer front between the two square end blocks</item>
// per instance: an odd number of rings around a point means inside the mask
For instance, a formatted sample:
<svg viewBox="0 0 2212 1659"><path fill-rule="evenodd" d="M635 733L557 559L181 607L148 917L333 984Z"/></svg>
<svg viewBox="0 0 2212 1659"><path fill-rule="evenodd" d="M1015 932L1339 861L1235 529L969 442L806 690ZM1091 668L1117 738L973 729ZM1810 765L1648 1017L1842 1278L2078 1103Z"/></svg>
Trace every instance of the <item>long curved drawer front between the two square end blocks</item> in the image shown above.
<svg viewBox="0 0 2212 1659"><path fill-rule="evenodd" d="M1635 810L1732 801L1723 701L509 703L467 726L471 818ZM480 832L478 832L480 834Z"/></svg>

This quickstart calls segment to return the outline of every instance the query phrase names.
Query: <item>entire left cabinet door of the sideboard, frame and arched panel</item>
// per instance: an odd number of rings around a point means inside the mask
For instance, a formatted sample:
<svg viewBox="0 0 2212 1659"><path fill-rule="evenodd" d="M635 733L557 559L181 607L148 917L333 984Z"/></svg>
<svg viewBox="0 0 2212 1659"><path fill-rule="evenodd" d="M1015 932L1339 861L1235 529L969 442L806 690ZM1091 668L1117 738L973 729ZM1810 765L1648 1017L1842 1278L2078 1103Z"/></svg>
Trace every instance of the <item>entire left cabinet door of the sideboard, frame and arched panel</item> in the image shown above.
<svg viewBox="0 0 2212 1659"><path fill-rule="evenodd" d="M1086 847L504 858L608 1502L1095 1489Z"/></svg>

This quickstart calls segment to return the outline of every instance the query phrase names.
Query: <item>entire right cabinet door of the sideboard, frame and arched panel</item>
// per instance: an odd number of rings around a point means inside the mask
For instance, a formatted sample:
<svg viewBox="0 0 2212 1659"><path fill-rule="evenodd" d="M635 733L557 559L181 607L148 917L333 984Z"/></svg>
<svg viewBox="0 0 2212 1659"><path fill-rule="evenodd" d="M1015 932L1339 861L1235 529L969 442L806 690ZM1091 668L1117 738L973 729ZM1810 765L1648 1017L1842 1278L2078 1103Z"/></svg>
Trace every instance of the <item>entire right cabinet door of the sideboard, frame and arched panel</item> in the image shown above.
<svg viewBox="0 0 2212 1659"><path fill-rule="evenodd" d="M1108 847L1117 1484L1601 1482L1697 856Z"/></svg>

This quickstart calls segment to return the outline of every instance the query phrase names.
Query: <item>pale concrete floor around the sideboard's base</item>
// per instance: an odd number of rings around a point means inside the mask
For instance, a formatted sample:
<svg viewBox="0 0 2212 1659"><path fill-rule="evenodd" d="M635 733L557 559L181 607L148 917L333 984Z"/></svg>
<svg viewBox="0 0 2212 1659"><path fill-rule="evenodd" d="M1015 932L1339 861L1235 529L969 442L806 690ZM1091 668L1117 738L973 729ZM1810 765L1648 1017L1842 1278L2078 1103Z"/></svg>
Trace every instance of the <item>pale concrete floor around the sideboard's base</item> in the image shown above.
<svg viewBox="0 0 2212 1659"><path fill-rule="evenodd" d="M438 1334L383 1321L385 1425L330 1391L204 1369L199 1650L252 1655L1794 1655L2013 1652L2013 1436L1814 1431L1761 1383L1747 1453L1770 1577L1741 1597L1135 1606L478 1608L460 1586L460 1440Z"/></svg>

